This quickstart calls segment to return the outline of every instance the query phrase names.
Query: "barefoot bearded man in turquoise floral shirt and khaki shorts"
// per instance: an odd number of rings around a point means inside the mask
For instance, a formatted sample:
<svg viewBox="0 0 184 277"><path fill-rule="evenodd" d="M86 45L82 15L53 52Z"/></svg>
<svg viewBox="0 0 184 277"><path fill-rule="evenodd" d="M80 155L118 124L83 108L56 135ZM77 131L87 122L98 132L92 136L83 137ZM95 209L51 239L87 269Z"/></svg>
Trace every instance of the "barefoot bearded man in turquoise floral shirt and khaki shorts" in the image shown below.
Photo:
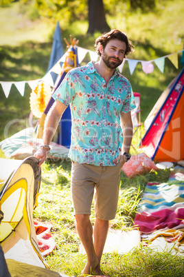
<svg viewBox="0 0 184 277"><path fill-rule="evenodd" d="M122 165L130 158L135 108L129 81L116 68L133 51L126 34L111 30L95 41L97 62L70 70L54 93L56 102L45 122L43 145L35 156L45 161L60 118L71 105L71 195L76 229L87 253L82 276L102 276L100 259L115 218ZM89 216L95 189L94 231ZM94 240L93 240L94 237Z"/></svg>

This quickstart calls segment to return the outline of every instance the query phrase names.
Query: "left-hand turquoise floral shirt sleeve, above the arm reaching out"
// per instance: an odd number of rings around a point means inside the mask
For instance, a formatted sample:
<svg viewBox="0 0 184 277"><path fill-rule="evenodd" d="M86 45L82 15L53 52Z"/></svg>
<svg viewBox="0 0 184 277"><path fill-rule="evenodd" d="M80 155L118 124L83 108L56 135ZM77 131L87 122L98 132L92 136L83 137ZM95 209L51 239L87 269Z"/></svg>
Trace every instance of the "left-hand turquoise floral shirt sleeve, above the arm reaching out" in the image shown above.
<svg viewBox="0 0 184 277"><path fill-rule="evenodd" d="M52 97L55 101L59 100L63 104L69 105L75 97L75 85L73 82L73 70L70 70Z"/></svg>

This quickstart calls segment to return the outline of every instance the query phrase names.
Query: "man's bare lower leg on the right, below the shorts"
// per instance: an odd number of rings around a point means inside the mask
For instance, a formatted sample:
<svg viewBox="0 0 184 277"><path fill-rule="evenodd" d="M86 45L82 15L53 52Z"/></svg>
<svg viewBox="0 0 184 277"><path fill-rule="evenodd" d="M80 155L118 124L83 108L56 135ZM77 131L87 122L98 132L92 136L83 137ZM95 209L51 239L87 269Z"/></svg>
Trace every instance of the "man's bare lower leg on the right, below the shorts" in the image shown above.
<svg viewBox="0 0 184 277"><path fill-rule="evenodd" d="M102 275L102 271L100 270L100 260L104 250L104 245L106 243L108 226L109 226L108 220L101 220L99 218L96 218L95 226L94 226L94 248L95 248L95 254L99 261L97 267L95 268L95 274L98 274L98 275Z"/></svg>

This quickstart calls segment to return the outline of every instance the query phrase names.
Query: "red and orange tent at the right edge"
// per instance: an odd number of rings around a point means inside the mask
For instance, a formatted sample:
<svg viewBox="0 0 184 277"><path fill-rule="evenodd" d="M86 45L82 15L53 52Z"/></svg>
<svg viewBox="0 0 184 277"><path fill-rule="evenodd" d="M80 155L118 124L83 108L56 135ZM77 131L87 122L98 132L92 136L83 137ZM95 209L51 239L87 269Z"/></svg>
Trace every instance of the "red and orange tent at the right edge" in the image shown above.
<svg viewBox="0 0 184 277"><path fill-rule="evenodd" d="M143 136L142 147L152 160L177 162L184 159L184 68L165 97Z"/></svg>

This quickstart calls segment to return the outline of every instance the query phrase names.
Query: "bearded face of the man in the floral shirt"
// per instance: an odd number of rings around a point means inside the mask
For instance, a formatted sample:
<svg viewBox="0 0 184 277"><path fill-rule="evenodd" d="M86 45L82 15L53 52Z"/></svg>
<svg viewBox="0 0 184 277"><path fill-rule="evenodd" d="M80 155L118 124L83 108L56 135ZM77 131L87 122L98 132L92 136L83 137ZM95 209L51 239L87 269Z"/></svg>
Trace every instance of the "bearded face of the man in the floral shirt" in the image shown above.
<svg viewBox="0 0 184 277"><path fill-rule="evenodd" d="M126 43L119 41L119 39L111 39L106 44L106 47L102 49L102 61L108 68L117 68L124 60L124 54L126 52Z"/></svg>

